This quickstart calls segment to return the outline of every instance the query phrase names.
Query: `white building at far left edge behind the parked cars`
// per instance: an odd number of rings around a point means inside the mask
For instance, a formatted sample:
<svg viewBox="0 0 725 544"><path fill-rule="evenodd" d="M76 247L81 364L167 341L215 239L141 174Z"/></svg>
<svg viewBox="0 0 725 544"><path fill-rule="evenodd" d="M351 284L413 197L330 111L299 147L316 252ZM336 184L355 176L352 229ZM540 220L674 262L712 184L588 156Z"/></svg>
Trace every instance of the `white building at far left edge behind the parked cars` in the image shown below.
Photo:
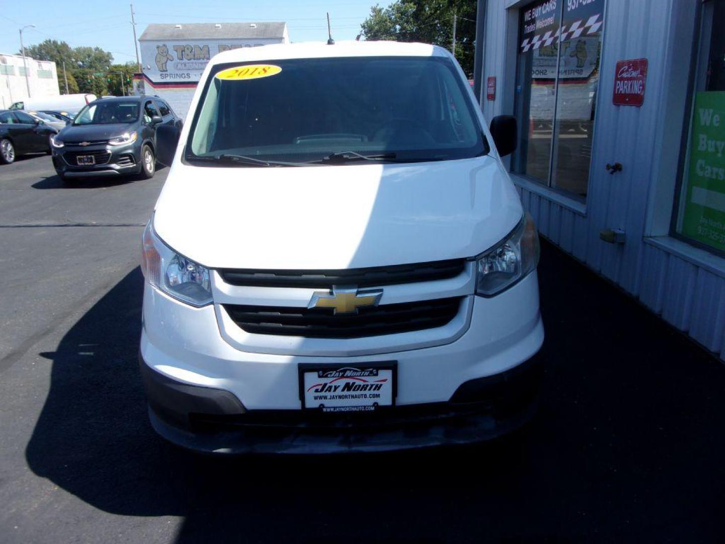
<svg viewBox="0 0 725 544"><path fill-rule="evenodd" d="M27 75L26 72L27 71ZM58 96L58 72L55 62L20 55L0 54L0 110L30 96Z"/></svg>

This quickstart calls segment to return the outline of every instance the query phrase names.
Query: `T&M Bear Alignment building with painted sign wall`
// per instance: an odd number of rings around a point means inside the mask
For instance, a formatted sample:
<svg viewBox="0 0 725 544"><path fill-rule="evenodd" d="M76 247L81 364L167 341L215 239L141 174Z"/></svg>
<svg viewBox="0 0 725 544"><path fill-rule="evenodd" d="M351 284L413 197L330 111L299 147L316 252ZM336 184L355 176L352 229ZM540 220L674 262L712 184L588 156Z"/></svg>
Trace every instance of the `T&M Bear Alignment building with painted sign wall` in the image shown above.
<svg viewBox="0 0 725 544"><path fill-rule="evenodd" d="M194 89L209 60L240 47L289 43L284 22L194 22L149 25L138 38L141 68L137 94L157 94L186 118Z"/></svg>

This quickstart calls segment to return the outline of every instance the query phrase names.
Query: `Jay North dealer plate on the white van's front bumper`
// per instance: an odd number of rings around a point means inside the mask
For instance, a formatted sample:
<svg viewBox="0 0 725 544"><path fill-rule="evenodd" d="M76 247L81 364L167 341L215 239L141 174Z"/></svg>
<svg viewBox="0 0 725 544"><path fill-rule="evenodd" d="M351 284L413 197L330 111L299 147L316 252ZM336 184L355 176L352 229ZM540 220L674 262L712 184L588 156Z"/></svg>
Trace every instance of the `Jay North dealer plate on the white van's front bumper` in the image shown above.
<svg viewBox="0 0 725 544"><path fill-rule="evenodd" d="M302 408L323 412L370 412L395 404L396 365L299 365Z"/></svg>

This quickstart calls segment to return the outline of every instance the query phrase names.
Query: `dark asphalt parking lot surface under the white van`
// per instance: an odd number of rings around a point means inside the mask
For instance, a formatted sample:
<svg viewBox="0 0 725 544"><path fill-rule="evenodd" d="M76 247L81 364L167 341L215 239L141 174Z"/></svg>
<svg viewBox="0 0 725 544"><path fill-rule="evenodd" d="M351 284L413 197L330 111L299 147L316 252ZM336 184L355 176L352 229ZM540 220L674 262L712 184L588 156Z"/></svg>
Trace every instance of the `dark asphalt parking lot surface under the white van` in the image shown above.
<svg viewBox="0 0 725 544"><path fill-rule="evenodd" d="M136 362L166 174L66 188L50 157L0 167L0 542L722 540L724 366L547 244L521 432L323 458L167 445Z"/></svg>

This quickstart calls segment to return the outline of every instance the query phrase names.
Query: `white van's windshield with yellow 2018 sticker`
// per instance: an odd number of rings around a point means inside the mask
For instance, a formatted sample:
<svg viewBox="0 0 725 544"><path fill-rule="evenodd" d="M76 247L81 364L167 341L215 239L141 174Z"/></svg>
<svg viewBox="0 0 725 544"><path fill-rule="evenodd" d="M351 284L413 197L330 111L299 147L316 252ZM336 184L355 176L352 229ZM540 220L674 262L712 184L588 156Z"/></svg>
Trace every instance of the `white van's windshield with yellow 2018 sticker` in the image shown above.
<svg viewBox="0 0 725 544"><path fill-rule="evenodd" d="M476 157L489 147L466 93L445 57L218 65L199 100L186 160L269 166L265 160L339 164L366 157L382 162ZM241 159L231 162L229 155Z"/></svg>

